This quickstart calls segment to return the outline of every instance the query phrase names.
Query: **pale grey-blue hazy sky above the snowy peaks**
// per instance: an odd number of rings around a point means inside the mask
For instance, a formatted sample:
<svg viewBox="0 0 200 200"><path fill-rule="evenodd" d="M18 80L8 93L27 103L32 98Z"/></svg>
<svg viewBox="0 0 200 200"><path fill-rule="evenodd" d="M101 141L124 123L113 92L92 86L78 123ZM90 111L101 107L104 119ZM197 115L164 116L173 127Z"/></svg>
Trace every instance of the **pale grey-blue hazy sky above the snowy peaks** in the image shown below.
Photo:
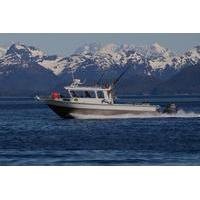
<svg viewBox="0 0 200 200"><path fill-rule="evenodd" d="M21 42L44 50L48 54L69 55L79 46L88 43L117 43L145 45L158 42L175 53L182 53L193 46L200 45L200 33L24 33L0 34L0 46Z"/></svg>

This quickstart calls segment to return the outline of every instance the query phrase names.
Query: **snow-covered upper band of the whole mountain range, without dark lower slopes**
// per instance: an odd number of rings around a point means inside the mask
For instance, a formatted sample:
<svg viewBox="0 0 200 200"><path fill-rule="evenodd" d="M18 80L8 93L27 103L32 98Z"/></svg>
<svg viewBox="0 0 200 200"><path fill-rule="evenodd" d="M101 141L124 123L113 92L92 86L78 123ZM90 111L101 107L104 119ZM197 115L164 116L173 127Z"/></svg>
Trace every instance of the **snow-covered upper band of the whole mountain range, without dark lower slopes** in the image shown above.
<svg viewBox="0 0 200 200"><path fill-rule="evenodd" d="M48 56L43 51L24 44L13 44L7 51L0 48L0 52L3 52L0 68L8 65L29 67L30 63L37 63L55 75L91 66L98 70L132 65L135 72L150 76L156 72L165 73L168 68L179 70L187 64L200 63L200 46L175 56L158 43L144 46L93 43L78 48L74 54L67 57Z"/></svg>

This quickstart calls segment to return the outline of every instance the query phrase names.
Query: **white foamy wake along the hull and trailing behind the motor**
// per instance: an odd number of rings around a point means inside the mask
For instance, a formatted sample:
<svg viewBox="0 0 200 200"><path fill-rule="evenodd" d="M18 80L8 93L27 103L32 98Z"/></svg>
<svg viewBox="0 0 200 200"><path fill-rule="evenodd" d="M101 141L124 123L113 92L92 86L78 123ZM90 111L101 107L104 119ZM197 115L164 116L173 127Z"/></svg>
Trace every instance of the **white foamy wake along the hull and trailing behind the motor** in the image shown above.
<svg viewBox="0 0 200 200"><path fill-rule="evenodd" d="M176 114L119 114L119 115L83 115L71 114L76 119L129 119L129 118L200 118L200 113L179 110Z"/></svg>

